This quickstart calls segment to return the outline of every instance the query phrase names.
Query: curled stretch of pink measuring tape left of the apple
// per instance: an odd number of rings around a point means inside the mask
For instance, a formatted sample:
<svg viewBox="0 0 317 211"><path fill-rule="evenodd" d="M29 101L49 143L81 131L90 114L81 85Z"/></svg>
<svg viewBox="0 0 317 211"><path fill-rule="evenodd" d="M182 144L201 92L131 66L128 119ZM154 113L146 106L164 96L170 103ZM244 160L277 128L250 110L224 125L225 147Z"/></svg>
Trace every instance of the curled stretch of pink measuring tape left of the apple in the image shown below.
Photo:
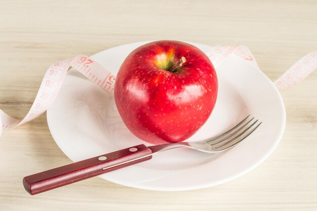
<svg viewBox="0 0 317 211"><path fill-rule="evenodd" d="M55 62L46 71L35 100L22 120L13 118L0 109L0 136L2 130L14 129L43 114L56 99L69 67L75 68L105 91L113 93L115 76L88 56L78 55Z"/></svg>

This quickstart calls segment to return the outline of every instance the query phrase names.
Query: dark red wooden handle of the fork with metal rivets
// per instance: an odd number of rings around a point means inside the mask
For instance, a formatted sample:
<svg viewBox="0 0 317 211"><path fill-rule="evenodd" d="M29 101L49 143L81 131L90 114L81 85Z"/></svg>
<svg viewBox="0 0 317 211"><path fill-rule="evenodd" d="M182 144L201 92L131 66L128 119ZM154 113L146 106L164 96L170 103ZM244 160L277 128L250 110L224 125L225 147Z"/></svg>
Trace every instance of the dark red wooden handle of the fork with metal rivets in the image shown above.
<svg viewBox="0 0 317 211"><path fill-rule="evenodd" d="M151 154L141 144L27 176L23 178L23 186L34 195L149 160Z"/></svg>

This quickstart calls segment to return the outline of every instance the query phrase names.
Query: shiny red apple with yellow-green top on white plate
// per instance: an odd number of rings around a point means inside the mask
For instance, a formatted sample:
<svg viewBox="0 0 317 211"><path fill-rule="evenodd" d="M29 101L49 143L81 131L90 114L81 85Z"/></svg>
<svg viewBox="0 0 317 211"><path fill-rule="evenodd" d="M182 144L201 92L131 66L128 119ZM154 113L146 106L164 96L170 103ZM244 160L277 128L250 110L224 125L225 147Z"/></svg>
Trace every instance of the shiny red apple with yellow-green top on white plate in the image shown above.
<svg viewBox="0 0 317 211"><path fill-rule="evenodd" d="M209 58L180 41L154 41L125 59L115 80L116 107L138 138L180 142L206 122L217 99L218 80Z"/></svg>

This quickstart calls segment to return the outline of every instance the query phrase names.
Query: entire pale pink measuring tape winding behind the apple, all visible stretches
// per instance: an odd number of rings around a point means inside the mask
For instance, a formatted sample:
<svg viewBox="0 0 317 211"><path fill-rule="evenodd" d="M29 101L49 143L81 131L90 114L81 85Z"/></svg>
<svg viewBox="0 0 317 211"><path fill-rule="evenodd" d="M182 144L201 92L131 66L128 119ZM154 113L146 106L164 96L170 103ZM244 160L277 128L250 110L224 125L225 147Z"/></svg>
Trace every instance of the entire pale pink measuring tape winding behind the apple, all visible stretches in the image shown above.
<svg viewBox="0 0 317 211"><path fill-rule="evenodd" d="M245 46L215 46L206 54L215 67L221 64L227 56L233 54L259 68L253 54ZM70 67L81 72L106 92L113 94L115 76L88 56L78 55L65 61L55 62L46 71L35 100L22 120L13 118L0 109L0 125L2 125L0 126L0 137L2 129L14 129L43 114L56 99ZM274 85L281 91L287 90L307 77L316 68L317 51L301 58L279 77Z"/></svg>

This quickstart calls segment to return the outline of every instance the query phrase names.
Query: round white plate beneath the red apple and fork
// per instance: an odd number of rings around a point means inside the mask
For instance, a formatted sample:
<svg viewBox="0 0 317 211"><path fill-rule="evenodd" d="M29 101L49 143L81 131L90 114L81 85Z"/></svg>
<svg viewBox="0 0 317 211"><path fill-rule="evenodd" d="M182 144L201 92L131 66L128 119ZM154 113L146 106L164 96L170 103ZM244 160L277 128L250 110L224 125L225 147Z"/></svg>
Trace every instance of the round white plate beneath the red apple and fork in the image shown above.
<svg viewBox="0 0 317 211"><path fill-rule="evenodd" d="M145 43L118 46L92 58L115 74L126 56ZM211 48L193 45L204 52ZM279 91L259 69L235 56L229 56L216 71L219 80L216 107L188 141L219 134L247 114L263 121L252 137L221 156L174 149L100 177L141 189L191 190L232 180L263 162L278 145L285 128L285 108ZM48 110L47 119L54 140L73 161L144 143L126 128L113 97L73 69Z"/></svg>

